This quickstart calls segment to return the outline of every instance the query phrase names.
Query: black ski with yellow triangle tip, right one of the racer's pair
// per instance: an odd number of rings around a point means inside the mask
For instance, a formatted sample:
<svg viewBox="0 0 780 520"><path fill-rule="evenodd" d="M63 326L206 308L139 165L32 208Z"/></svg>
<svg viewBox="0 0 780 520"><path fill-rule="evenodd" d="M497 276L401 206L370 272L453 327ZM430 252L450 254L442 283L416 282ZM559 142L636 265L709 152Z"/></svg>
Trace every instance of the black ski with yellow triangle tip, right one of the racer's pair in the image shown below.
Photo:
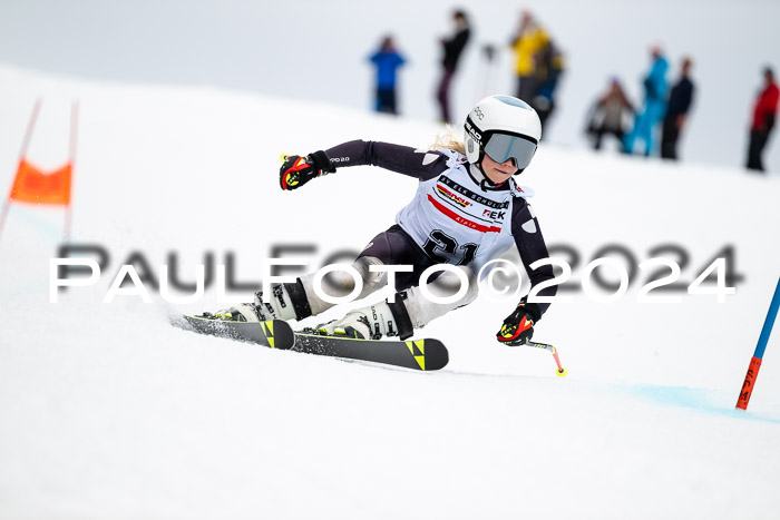
<svg viewBox="0 0 780 520"><path fill-rule="evenodd" d="M449 362L447 347L439 340L353 340L296 332L293 350L426 372L443 369Z"/></svg>

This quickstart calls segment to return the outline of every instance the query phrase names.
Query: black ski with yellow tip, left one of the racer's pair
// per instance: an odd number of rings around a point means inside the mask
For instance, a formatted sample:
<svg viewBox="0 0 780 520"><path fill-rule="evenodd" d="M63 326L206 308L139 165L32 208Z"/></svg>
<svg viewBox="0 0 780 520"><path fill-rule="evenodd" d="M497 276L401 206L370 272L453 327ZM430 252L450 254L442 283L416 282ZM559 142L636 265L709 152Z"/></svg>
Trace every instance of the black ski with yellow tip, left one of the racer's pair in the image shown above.
<svg viewBox="0 0 780 520"><path fill-rule="evenodd" d="M271 349L292 349L295 343L292 327L282 320L261 323L233 322L215 316L189 316L186 314L184 320L191 330L199 334L257 343Z"/></svg>

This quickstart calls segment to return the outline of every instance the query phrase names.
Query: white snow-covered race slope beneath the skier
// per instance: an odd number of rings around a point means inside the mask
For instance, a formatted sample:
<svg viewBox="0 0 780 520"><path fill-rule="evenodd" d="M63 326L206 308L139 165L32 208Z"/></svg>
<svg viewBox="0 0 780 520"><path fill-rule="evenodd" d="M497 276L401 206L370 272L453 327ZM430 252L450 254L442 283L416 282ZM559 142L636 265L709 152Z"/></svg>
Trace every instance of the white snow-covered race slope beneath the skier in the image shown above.
<svg viewBox="0 0 780 520"><path fill-rule="evenodd" d="M567 293L537 326L569 370L493 335L513 303L480 297L429 325L439 373L348 363L169 326L196 303L117 296L136 255L192 281L207 254L260 278L279 245L318 267L388 227L415 181L342 169L294 193L279 154L363 138L429 145L443 129L319 104L88 82L0 67L0 184L27 120L29 157L67 157L80 102L72 241L110 265L49 303L62 212L14 205L0 239L0 518L776 518L780 349L770 339L748 413L733 411L780 269L780 183L544 146L523 175L573 282L605 245L637 262L674 245L690 283L731 246L737 294L614 303ZM287 254L286 256L294 256ZM572 259L572 258L571 258ZM574 264L574 262L572 262ZM651 293L656 294L656 293ZM335 316L331 312L328 316Z"/></svg>

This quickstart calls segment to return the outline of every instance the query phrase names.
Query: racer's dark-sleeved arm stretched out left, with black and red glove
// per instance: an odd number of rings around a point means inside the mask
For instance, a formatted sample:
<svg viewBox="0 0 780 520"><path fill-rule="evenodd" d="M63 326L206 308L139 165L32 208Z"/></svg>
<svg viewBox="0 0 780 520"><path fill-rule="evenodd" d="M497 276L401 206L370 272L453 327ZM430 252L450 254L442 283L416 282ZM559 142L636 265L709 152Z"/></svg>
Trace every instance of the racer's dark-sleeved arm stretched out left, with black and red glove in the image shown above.
<svg viewBox="0 0 780 520"><path fill-rule="evenodd" d="M447 169L447 156L389 143L352 140L305 157L285 157L280 169L280 185L282 189L295 189L315 177L334 173L337 167L364 165L428 180Z"/></svg>

